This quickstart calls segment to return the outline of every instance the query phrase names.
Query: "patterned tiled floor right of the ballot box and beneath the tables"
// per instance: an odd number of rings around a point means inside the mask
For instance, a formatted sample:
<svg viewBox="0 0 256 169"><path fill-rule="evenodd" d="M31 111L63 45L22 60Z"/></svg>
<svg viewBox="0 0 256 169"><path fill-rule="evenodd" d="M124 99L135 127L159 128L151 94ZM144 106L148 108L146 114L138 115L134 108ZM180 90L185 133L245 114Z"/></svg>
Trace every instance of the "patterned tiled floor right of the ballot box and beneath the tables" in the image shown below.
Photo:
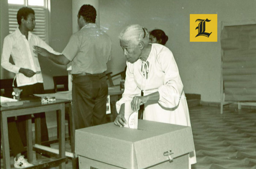
<svg viewBox="0 0 256 169"><path fill-rule="evenodd" d="M224 108L223 115L218 107L196 106L189 110L197 156L192 169L256 169L255 109ZM53 113L51 116L55 117ZM57 144L51 146L58 148ZM70 151L68 142L66 149ZM72 168L70 160L66 168Z"/></svg>

